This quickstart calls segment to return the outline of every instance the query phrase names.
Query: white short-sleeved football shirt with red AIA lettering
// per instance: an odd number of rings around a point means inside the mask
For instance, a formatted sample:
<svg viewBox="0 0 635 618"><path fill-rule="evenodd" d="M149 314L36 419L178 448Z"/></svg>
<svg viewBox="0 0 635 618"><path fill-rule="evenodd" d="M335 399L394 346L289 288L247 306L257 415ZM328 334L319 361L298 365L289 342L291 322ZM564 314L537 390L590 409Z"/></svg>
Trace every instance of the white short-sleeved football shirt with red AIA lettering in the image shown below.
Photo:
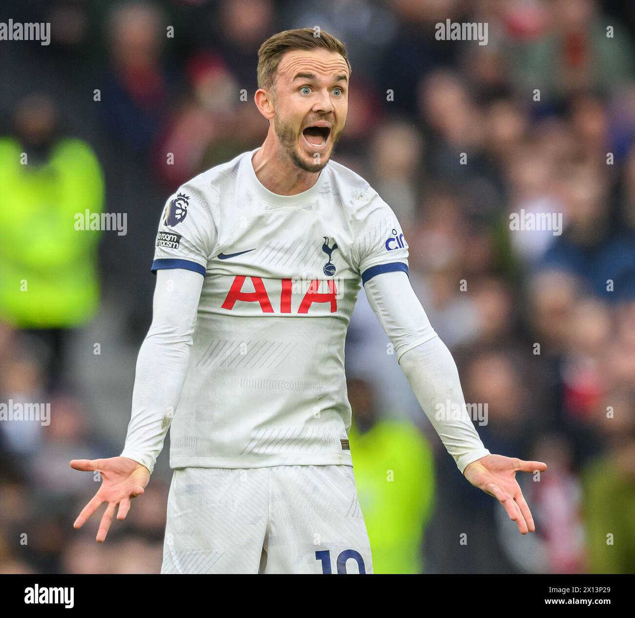
<svg viewBox="0 0 635 618"><path fill-rule="evenodd" d="M205 279L170 466L352 465L344 341L363 282L408 272L387 203L329 161L309 190L263 186L243 153L182 185L153 271Z"/></svg>

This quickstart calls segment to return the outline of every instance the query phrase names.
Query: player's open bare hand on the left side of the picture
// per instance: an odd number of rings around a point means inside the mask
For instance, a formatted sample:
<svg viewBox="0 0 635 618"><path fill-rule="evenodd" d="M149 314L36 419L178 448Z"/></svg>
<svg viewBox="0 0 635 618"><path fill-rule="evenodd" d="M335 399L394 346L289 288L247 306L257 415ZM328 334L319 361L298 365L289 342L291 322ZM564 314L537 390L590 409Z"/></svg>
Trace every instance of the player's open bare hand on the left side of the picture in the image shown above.
<svg viewBox="0 0 635 618"><path fill-rule="evenodd" d="M102 477L102 486L79 513L73 527L75 529L81 528L102 503L107 502L108 506L95 539L97 543L104 543L117 505L119 505L117 519L125 519L130 510L130 500L137 498L145 491L144 487L150 481L150 471L137 461L127 457L96 460L74 459L70 462L70 467L86 472L98 470Z"/></svg>

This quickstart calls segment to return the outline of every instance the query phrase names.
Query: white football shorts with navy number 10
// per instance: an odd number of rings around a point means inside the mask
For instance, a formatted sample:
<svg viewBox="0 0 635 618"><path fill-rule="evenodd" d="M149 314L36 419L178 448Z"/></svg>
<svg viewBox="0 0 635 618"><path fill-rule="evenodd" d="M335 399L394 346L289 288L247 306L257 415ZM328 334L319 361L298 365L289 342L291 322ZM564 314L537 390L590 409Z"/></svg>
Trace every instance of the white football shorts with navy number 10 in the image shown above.
<svg viewBox="0 0 635 618"><path fill-rule="evenodd" d="M161 573L371 573L351 466L178 468Z"/></svg>

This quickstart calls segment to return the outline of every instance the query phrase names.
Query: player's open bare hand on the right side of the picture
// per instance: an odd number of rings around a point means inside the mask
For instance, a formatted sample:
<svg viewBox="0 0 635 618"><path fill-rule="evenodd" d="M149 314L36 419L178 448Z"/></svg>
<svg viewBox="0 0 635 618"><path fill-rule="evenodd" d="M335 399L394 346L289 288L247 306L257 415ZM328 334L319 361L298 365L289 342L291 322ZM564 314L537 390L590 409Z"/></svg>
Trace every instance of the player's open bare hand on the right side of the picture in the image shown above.
<svg viewBox="0 0 635 618"><path fill-rule="evenodd" d="M523 498L516 480L516 472L544 472L547 464L542 461L523 461L516 457L487 455L472 461L463 474L474 487L494 496L507 511L507 515L518 525L521 534L535 532L531 511Z"/></svg>

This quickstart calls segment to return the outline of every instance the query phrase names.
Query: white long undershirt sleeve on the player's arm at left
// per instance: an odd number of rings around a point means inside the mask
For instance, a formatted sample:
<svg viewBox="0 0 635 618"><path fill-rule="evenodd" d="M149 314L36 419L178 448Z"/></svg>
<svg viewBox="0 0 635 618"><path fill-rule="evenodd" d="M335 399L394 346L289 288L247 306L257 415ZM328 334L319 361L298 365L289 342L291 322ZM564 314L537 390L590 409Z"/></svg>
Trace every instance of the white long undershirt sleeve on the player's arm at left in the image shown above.
<svg viewBox="0 0 635 618"><path fill-rule="evenodd" d="M137 358L132 413L121 456L150 473L178 406L203 277L173 269L157 272L153 318Z"/></svg>

